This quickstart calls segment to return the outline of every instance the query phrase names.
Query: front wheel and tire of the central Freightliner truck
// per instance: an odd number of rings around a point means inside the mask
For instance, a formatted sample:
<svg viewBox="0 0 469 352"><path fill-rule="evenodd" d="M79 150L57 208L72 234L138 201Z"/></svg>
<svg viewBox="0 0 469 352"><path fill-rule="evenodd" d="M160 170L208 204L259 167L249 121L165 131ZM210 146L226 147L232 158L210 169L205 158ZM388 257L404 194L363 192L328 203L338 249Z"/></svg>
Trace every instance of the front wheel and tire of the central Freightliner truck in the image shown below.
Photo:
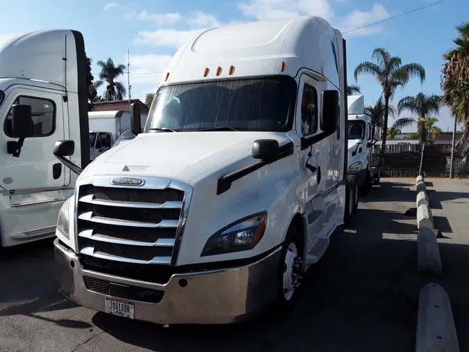
<svg viewBox="0 0 469 352"><path fill-rule="evenodd" d="M302 279L303 237L295 223L290 224L286 239L281 248L277 271L277 294L272 313L284 319L293 307L298 296L298 286Z"/></svg>

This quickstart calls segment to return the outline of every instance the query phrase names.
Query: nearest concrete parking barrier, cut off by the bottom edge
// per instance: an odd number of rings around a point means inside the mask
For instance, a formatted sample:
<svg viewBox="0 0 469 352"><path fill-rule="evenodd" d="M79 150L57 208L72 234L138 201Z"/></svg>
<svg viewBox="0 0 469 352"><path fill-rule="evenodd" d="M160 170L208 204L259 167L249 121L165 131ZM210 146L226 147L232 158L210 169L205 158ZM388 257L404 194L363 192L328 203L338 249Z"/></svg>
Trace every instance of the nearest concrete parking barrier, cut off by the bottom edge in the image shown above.
<svg viewBox="0 0 469 352"><path fill-rule="evenodd" d="M443 287L434 283L420 289L415 351L460 351L450 298Z"/></svg>

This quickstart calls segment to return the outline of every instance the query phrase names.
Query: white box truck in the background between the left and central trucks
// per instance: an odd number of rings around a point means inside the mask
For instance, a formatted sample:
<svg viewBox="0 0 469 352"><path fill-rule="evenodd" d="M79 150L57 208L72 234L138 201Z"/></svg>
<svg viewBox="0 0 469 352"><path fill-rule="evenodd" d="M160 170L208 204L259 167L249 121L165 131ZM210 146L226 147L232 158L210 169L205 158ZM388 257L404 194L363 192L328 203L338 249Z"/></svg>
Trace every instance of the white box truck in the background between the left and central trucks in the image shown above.
<svg viewBox="0 0 469 352"><path fill-rule="evenodd" d="M110 150L120 136L131 128L129 111L90 111L90 160ZM141 115L142 129L147 122L147 114Z"/></svg>

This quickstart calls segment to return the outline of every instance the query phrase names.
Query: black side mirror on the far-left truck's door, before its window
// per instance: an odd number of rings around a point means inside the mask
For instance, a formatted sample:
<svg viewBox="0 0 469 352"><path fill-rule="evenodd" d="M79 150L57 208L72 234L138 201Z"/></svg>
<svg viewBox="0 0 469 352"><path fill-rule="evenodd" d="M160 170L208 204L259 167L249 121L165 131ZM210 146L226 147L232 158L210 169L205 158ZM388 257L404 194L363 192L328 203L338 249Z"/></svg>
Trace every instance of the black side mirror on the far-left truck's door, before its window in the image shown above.
<svg viewBox="0 0 469 352"><path fill-rule="evenodd" d="M8 154L19 158L21 148L23 147L24 138L33 135L33 113L31 105L14 104L11 107L11 134L18 138L18 141L8 141L6 149Z"/></svg>

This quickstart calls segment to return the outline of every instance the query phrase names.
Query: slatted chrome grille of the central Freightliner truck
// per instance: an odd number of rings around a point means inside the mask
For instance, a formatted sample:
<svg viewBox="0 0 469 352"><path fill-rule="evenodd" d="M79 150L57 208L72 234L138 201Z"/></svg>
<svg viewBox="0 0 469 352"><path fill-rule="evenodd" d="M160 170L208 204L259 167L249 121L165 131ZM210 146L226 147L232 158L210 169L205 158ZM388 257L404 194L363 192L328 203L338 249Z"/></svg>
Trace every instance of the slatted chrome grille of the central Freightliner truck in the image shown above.
<svg viewBox="0 0 469 352"><path fill-rule="evenodd" d="M113 186L112 179L78 187L79 253L111 265L175 265L192 188L151 178L143 187Z"/></svg>

